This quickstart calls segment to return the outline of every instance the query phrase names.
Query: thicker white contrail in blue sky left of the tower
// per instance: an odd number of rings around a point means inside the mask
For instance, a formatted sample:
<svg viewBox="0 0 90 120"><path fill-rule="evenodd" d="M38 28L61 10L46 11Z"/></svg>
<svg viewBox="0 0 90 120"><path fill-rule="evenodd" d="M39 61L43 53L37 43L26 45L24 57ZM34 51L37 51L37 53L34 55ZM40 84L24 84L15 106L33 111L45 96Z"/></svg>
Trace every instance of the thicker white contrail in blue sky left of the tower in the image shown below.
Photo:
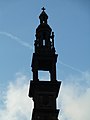
<svg viewBox="0 0 90 120"><path fill-rule="evenodd" d="M31 45L29 45L29 43L22 41L20 38L18 38L17 36L12 35L11 33L7 33L7 32L0 32L0 35L4 35L7 37L10 37L11 39L17 41L19 44L21 44L24 47L27 47L29 49L33 49Z"/></svg>

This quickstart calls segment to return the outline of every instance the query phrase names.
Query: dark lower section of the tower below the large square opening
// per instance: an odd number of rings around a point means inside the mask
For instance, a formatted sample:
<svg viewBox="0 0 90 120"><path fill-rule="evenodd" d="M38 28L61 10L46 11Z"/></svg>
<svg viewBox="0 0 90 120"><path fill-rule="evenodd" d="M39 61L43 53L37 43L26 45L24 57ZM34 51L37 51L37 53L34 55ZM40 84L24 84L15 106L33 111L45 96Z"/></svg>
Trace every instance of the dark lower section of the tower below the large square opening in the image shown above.
<svg viewBox="0 0 90 120"><path fill-rule="evenodd" d="M31 81L29 97L33 98L32 120L58 120L56 109L61 81Z"/></svg>

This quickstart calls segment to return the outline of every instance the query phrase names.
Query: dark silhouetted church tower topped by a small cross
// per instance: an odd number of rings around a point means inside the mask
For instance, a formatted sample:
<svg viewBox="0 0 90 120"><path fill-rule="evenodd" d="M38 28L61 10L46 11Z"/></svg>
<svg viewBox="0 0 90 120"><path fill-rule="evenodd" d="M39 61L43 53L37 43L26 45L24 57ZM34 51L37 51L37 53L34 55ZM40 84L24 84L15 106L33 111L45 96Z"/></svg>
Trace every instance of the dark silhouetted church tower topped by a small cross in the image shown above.
<svg viewBox="0 0 90 120"><path fill-rule="evenodd" d="M39 19L31 64L33 80L30 81L29 89L29 97L33 98L34 102L32 120L58 120L56 99L61 85L61 81L56 78L58 54L54 47L54 32L48 25L45 8L42 8ZM50 80L39 80L38 71L49 71Z"/></svg>

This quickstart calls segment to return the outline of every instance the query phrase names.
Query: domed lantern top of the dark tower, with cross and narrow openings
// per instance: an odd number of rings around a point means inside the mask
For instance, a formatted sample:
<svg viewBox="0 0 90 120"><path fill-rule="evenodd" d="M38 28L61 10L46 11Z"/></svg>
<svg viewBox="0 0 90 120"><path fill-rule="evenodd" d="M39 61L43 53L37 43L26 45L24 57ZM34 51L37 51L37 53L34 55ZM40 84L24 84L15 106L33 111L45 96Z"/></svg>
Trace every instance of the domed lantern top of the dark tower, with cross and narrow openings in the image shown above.
<svg viewBox="0 0 90 120"><path fill-rule="evenodd" d="M42 12L39 16L40 24L36 28L36 40L35 40L35 52L37 54L45 53L51 54L55 52L54 49L54 32L47 23L48 15L45 12L45 8L42 8Z"/></svg>

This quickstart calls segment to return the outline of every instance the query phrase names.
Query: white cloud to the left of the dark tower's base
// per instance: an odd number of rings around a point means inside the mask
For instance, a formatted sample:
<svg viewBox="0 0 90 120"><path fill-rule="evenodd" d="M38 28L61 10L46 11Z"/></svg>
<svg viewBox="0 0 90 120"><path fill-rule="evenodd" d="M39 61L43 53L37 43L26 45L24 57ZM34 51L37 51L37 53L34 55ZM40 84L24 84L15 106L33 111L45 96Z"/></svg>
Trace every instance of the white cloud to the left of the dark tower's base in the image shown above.
<svg viewBox="0 0 90 120"><path fill-rule="evenodd" d="M29 120L33 102L28 97L28 78L18 74L16 81L11 82L6 91L4 108L0 109L1 120Z"/></svg>

